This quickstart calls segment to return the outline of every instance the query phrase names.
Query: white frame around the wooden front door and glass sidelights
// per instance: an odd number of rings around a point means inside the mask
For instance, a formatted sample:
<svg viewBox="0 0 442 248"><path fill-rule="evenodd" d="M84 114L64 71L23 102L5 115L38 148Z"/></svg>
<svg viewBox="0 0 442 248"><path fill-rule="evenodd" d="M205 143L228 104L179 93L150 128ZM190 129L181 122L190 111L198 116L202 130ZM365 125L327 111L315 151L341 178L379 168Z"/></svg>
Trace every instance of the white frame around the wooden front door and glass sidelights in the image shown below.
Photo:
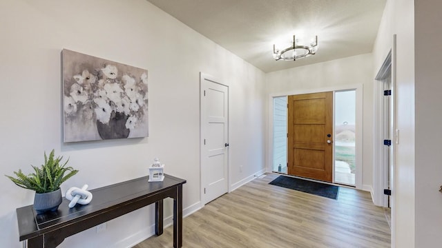
<svg viewBox="0 0 442 248"><path fill-rule="evenodd" d="M269 102L269 130L267 134L267 141L269 144L269 147L267 149L267 164L269 165L267 167L267 172L272 172L273 168L273 98L278 96L289 96L289 95L296 95L296 94L311 94L311 93L318 93L318 92L339 92L339 91L345 91L345 90L355 90L356 91L356 174L355 174L355 187L356 189L363 189L365 191L371 192L372 189L368 185L362 184L362 177L363 177L363 85L362 84L352 84L352 85L336 85L332 87L324 87L324 88L318 88L318 89L309 89L309 90L296 90L296 91L289 91L289 92L280 92L280 93L271 93L269 94L268 102ZM333 97L334 97L333 93ZM334 103L334 101L333 101ZM333 106L334 110L334 106ZM333 125L333 132L334 132L334 125ZM334 152L333 152L334 156ZM333 157L334 161L334 157ZM334 162L333 162L333 180L334 180Z"/></svg>

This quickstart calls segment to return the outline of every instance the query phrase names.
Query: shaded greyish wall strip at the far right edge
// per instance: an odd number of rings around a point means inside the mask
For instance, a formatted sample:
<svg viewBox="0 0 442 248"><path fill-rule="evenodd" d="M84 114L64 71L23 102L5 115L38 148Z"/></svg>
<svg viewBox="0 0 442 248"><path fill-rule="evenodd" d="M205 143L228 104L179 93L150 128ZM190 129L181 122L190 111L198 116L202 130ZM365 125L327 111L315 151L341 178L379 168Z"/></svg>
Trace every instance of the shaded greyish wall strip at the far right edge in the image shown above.
<svg viewBox="0 0 442 248"><path fill-rule="evenodd" d="M416 247L442 244L441 1L415 1Z"/></svg>

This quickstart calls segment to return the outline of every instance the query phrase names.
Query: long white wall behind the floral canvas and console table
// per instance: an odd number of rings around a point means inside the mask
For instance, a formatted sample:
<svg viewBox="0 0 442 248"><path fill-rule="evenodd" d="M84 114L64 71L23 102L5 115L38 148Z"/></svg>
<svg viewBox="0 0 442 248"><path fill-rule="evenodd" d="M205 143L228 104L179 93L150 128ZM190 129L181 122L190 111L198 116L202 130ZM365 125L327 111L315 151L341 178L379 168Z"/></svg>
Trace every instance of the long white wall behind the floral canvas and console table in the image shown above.
<svg viewBox="0 0 442 248"><path fill-rule="evenodd" d="M231 185L264 169L265 74L144 0L0 1L0 175L70 157L79 174L62 185L91 189L137 178L158 156L185 178L184 209L200 203L199 72L229 85ZM61 50L148 70L148 138L62 142ZM242 172L239 166L242 165ZM0 247L21 247L15 209L33 193L0 179ZM171 202L165 216L171 215ZM128 247L151 235L153 208L86 230L63 247ZM146 225L148 224L148 225ZM84 242L87 240L87 242Z"/></svg>

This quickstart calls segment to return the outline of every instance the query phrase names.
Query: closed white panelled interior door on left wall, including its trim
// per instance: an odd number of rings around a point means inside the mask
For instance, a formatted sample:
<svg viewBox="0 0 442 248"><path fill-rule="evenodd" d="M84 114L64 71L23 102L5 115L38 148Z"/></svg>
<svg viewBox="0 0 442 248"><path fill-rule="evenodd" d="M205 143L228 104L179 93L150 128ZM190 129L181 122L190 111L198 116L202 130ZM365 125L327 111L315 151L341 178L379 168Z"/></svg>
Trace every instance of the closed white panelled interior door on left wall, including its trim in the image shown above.
<svg viewBox="0 0 442 248"><path fill-rule="evenodd" d="M202 205L226 194L229 185L229 88L206 74L201 84Z"/></svg>

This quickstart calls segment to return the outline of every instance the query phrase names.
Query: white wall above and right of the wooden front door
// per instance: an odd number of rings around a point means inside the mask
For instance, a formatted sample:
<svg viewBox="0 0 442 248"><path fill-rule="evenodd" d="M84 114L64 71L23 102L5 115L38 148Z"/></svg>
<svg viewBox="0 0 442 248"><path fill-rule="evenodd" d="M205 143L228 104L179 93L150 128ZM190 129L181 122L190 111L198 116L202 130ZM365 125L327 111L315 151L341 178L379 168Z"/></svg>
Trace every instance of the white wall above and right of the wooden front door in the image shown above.
<svg viewBox="0 0 442 248"><path fill-rule="evenodd" d="M373 57L361 54L267 74L267 94L314 91L343 85L363 85L363 187L373 176ZM269 97L268 96L268 97ZM271 103L269 103L271 104Z"/></svg>

